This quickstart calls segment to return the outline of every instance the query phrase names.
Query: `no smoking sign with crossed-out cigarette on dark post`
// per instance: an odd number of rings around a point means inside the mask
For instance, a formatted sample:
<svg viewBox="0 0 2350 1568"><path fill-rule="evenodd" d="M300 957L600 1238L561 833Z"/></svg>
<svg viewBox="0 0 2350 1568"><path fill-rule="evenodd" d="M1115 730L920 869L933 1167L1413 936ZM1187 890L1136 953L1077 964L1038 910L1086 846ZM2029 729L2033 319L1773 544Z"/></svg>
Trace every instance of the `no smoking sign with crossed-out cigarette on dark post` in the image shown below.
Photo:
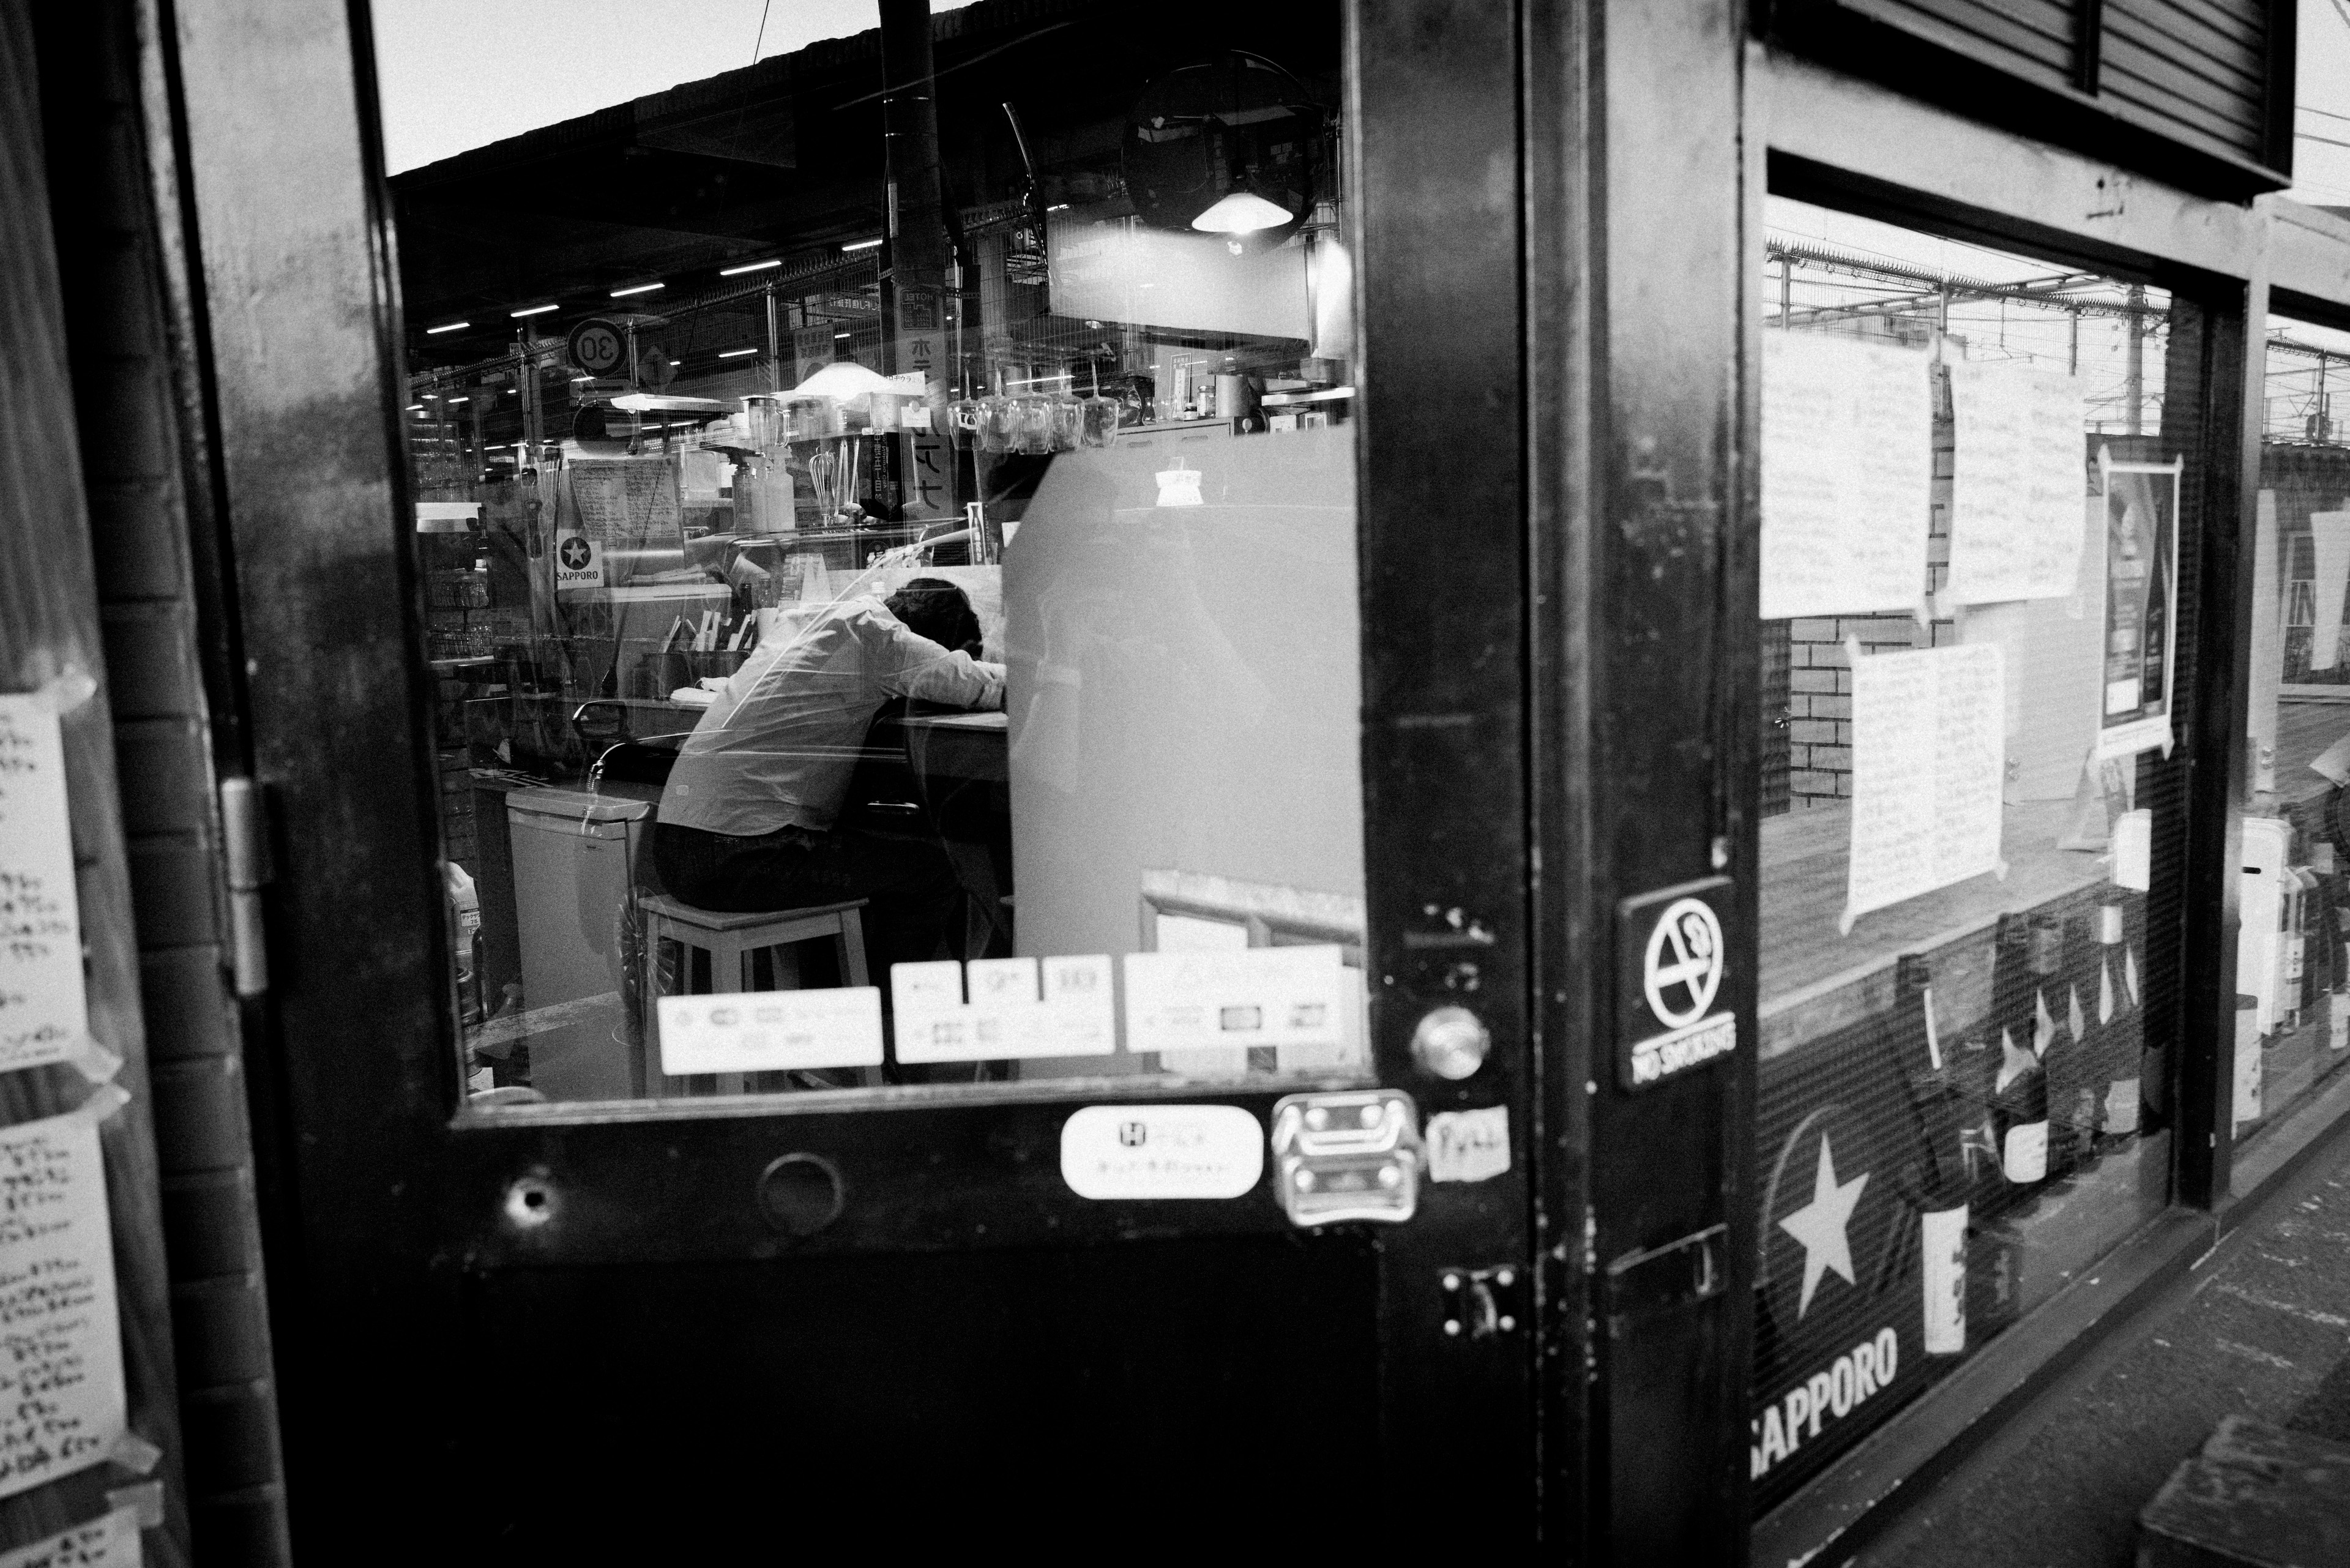
<svg viewBox="0 0 2350 1568"><path fill-rule="evenodd" d="M1730 973L1730 877L1617 905L1617 1084L1652 1088L1739 1048Z"/></svg>

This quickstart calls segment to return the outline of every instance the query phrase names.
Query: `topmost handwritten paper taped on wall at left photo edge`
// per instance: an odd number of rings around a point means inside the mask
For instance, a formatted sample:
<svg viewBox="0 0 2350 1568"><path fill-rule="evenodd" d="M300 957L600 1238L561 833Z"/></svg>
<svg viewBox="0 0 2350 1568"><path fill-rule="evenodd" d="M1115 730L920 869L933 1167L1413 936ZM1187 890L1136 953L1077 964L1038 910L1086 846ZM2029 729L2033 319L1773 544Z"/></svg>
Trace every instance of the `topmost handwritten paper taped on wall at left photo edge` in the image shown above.
<svg viewBox="0 0 2350 1568"><path fill-rule="evenodd" d="M66 743L47 698L0 696L0 1072L80 1053L87 1027Z"/></svg>

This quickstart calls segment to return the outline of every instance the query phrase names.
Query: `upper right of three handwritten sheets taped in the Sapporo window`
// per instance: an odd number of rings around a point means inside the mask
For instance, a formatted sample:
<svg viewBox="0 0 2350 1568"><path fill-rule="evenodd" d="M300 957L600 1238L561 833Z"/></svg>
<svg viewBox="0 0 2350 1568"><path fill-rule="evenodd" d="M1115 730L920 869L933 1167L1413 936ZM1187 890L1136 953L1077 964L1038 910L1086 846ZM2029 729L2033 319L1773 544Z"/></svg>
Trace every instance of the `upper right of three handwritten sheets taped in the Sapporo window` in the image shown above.
<svg viewBox="0 0 2350 1568"><path fill-rule="evenodd" d="M1953 364L1950 414L1950 602L2080 592L2080 381L2030 364Z"/></svg>

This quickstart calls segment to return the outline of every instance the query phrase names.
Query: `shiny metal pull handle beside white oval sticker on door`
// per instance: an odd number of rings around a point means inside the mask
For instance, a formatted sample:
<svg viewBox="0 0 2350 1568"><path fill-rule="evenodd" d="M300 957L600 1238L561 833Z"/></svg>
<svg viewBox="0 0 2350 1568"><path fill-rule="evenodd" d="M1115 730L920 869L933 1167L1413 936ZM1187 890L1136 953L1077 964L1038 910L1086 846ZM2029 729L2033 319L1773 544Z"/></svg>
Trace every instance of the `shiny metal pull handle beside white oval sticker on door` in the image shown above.
<svg viewBox="0 0 2350 1568"><path fill-rule="evenodd" d="M1292 1225L1401 1225L1419 1208L1426 1171L1419 1110L1401 1088L1285 1095L1274 1105L1274 1161Z"/></svg>

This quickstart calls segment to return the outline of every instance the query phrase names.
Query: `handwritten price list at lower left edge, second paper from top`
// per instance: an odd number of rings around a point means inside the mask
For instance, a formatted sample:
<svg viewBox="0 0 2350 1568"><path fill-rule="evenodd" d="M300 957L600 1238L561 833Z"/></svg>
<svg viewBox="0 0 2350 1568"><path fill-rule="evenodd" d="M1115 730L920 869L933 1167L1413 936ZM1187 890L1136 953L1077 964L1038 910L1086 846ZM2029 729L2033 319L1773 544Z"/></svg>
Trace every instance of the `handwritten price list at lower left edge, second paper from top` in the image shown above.
<svg viewBox="0 0 2350 1568"><path fill-rule="evenodd" d="M99 1119L129 1095L0 1128L0 1497L122 1439L122 1331Z"/></svg>

